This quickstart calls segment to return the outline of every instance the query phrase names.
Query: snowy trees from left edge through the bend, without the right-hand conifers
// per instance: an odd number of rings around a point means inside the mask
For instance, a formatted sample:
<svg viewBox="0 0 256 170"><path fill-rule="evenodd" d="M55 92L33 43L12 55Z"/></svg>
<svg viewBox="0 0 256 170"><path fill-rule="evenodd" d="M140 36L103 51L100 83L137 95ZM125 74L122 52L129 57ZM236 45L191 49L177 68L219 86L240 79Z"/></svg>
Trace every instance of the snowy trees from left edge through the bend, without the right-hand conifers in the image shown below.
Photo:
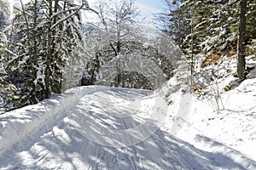
<svg viewBox="0 0 256 170"><path fill-rule="evenodd" d="M12 14L0 0L0 107L6 111L74 86L107 81L154 89L172 77L179 51L170 37L136 20L134 0L98 0L94 8L84 0L22 2L14 1ZM98 21L83 23L85 10ZM137 67L129 70L132 57Z"/></svg>

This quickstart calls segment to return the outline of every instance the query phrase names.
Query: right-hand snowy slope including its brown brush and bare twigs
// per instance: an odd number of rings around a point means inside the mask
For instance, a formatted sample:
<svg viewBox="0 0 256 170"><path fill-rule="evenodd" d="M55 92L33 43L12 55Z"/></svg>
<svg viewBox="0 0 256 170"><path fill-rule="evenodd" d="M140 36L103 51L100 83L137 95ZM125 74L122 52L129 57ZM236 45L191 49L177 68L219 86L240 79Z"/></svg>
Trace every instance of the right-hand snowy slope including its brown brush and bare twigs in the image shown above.
<svg viewBox="0 0 256 170"><path fill-rule="evenodd" d="M256 66L255 55L247 57L247 66ZM241 83L234 77L236 59L224 58L218 65L199 71L203 75L196 83L201 87L201 94L193 95L190 100L184 96L188 101L177 100L181 90L171 94L168 100L173 101L173 113L163 128L198 148L224 151L234 160L242 161L234 151L224 149L221 144L225 144L256 160L256 68ZM180 108L189 110L177 114Z"/></svg>

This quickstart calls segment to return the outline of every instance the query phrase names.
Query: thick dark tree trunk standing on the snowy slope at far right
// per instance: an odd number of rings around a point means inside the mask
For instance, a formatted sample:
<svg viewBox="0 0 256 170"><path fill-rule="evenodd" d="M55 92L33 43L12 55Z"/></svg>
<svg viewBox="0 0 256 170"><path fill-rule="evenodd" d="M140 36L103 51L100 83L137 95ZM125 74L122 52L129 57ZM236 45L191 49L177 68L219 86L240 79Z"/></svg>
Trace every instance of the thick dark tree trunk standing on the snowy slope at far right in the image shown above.
<svg viewBox="0 0 256 170"><path fill-rule="evenodd" d="M240 23L239 23L239 37L238 37L238 48L237 48L237 77L240 80L246 78L245 75L245 34L246 34L246 11L247 11L247 0L240 1Z"/></svg>

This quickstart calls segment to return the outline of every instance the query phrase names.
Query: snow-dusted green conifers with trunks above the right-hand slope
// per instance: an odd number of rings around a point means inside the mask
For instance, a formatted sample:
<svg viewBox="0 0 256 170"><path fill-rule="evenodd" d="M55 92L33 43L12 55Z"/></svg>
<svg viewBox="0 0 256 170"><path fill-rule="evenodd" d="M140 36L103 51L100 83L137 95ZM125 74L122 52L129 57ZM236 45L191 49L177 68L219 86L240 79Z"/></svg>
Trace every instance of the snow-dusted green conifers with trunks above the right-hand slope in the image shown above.
<svg viewBox="0 0 256 170"><path fill-rule="evenodd" d="M245 58L256 51L255 0L165 2L167 10L158 14L158 19L161 19L159 27L180 45L184 54L187 54L192 86L196 86L195 57L198 58L197 61L203 61L203 67L216 63L222 56L237 56L234 76L239 78L238 82L246 78L248 71ZM182 32L183 37L177 38L181 37Z"/></svg>

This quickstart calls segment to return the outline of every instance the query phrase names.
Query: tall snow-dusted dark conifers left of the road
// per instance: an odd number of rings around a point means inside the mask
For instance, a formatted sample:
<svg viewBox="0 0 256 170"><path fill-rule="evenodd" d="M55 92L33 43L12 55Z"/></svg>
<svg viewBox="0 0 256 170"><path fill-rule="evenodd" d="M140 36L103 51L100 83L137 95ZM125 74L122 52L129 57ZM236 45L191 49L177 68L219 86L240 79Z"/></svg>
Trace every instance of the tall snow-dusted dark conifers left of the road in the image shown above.
<svg viewBox="0 0 256 170"><path fill-rule="evenodd" d="M81 57L77 52L78 44L83 43L79 11L84 8L89 8L86 1L15 4L9 44L1 49L8 73L5 82L16 88L15 100L2 96L6 105L31 105L52 93L61 93L64 67L72 58Z"/></svg>

